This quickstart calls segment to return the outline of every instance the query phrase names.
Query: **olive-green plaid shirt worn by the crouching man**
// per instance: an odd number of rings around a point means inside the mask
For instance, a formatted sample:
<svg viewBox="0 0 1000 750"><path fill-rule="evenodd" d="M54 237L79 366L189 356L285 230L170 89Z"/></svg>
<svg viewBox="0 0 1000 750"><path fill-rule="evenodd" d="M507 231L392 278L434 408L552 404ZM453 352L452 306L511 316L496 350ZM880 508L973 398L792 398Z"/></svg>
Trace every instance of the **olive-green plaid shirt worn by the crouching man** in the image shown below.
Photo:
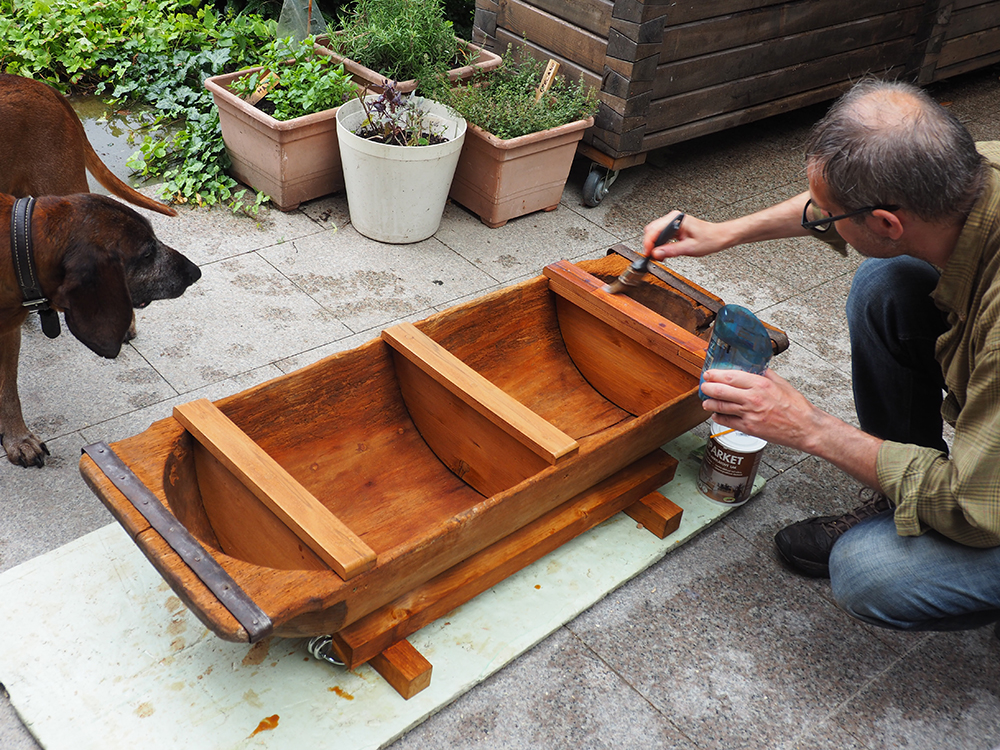
<svg viewBox="0 0 1000 750"><path fill-rule="evenodd" d="M979 144L993 163L931 295L950 328L937 340L955 427L951 456L885 442L876 468L896 503L896 531L935 529L972 547L1000 545L1000 141Z"/></svg>

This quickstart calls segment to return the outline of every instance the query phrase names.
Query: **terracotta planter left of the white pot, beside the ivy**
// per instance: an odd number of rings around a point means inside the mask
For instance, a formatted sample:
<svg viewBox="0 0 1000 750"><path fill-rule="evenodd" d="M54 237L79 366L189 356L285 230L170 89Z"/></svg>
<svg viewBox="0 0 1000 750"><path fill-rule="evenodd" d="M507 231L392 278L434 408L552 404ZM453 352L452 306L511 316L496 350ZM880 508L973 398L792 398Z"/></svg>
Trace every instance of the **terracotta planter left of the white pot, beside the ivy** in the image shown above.
<svg viewBox="0 0 1000 750"><path fill-rule="evenodd" d="M282 211L344 189L337 140L337 109L276 120L229 90L237 78L260 68L205 81L219 108L222 139L232 161L229 174L270 196Z"/></svg>

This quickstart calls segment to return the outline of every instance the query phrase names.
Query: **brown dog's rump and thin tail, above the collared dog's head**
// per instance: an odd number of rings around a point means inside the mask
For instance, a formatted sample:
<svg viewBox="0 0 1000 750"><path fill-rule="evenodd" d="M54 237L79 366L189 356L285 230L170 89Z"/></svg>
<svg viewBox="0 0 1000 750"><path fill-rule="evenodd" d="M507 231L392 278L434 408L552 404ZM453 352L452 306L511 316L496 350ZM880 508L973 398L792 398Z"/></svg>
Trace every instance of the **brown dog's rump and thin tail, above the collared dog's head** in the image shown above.
<svg viewBox="0 0 1000 750"><path fill-rule="evenodd" d="M122 200L176 215L112 174L62 94L30 78L0 74L0 193L17 198L86 193L87 170Z"/></svg>

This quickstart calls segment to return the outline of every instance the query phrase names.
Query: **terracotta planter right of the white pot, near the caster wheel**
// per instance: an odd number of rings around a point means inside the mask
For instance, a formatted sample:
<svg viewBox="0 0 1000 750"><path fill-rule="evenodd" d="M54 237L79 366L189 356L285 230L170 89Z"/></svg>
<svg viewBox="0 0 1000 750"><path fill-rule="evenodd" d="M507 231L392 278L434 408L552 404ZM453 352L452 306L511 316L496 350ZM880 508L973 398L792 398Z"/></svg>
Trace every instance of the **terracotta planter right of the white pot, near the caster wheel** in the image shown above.
<svg viewBox="0 0 1000 750"><path fill-rule="evenodd" d="M469 123L450 197L488 227L559 206L576 146L594 118L503 140Z"/></svg>

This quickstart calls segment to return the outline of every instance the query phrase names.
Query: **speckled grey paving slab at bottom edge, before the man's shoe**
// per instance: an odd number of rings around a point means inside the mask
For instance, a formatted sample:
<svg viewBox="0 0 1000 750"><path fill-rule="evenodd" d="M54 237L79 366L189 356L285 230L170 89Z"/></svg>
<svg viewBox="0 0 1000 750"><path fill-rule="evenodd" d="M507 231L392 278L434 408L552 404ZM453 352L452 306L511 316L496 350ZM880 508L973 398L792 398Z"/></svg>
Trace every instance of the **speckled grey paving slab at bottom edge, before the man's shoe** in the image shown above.
<svg viewBox="0 0 1000 750"><path fill-rule="evenodd" d="M897 658L732 531L713 541L567 626L699 747L776 747Z"/></svg>

